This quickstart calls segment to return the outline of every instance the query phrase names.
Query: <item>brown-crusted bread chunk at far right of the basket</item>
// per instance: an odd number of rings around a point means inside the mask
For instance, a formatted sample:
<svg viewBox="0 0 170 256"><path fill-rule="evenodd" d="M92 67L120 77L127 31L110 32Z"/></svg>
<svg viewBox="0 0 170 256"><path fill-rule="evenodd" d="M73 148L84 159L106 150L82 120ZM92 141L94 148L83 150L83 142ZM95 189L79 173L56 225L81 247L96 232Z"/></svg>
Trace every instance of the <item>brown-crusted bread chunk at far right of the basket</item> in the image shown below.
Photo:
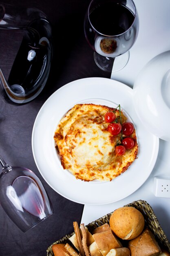
<svg viewBox="0 0 170 256"><path fill-rule="evenodd" d="M158 256L161 249L150 229L146 228L137 238L128 242L131 256Z"/></svg>

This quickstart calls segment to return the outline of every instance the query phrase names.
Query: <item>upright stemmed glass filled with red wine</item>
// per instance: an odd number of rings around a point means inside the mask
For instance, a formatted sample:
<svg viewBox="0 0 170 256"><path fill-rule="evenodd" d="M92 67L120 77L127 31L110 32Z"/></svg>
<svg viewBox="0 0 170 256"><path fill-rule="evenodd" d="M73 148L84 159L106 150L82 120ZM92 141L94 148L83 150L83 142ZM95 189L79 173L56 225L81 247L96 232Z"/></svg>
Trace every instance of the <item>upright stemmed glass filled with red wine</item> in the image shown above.
<svg viewBox="0 0 170 256"><path fill-rule="evenodd" d="M84 19L86 40L102 70L121 70L139 31L139 18L132 0L92 0Z"/></svg>

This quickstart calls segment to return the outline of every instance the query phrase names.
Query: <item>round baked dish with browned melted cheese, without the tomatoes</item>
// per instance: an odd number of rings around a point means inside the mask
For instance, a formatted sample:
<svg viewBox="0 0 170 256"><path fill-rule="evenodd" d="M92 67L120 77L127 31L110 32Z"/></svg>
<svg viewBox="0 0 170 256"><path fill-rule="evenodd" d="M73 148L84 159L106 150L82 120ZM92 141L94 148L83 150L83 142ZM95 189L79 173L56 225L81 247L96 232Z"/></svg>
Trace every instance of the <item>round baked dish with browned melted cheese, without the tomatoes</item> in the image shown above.
<svg viewBox="0 0 170 256"><path fill-rule="evenodd" d="M124 173L137 158L138 144L135 129L128 136L133 142L120 155L119 145L124 145L126 135L112 135L105 115L113 112L114 124L127 122L122 110L95 104L76 104L60 120L54 134L55 147L64 169L84 181L111 181ZM127 124L127 123L126 123ZM129 123L128 123L129 124ZM121 147L124 147L121 146Z"/></svg>

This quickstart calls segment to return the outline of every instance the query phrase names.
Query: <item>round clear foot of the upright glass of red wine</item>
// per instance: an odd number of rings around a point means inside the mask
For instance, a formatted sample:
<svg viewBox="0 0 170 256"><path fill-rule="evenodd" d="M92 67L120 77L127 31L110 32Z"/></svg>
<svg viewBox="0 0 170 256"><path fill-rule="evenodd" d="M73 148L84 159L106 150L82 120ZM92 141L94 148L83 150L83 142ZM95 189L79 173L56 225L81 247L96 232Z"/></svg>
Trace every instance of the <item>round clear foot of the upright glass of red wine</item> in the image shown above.
<svg viewBox="0 0 170 256"><path fill-rule="evenodd" d="M95 63L99 68L107 72L117 72L124 68L129 60L129 52L115 58L109 58L94 52Z"/></svg>

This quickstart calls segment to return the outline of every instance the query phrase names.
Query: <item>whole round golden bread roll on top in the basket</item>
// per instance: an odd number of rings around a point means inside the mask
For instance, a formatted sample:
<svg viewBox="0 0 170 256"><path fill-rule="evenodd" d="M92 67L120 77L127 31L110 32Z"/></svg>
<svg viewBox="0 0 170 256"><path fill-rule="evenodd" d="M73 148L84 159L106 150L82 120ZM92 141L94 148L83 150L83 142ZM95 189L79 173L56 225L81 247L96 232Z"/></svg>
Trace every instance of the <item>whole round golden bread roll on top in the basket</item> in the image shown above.
<svg viewBox="0 0 170 256"><path fill-rule="evenodd" d="M119 238L136 238L144 229L145 220L140 211L133 207L120 207L110 216L110 228Z"/></svg>

